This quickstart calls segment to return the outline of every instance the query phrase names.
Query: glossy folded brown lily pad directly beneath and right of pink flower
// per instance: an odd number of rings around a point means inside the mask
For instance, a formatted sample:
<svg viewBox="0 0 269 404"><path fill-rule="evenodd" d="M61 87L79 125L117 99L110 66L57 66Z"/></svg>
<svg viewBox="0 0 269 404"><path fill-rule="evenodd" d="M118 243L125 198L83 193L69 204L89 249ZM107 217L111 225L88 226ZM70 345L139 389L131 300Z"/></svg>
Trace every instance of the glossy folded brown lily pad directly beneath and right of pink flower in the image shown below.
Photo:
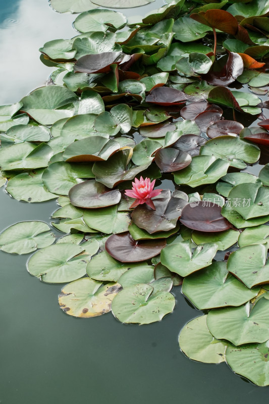
<svg viewBox="0 0 269 404"><path fill-rule="evenodd" d="M143 204L132 212L134 224L150 234L174 229L182 209L188 204L188 196L182 191L174 191L171 196L171 191L165 189L153 201L155 211Z"/></svg>

